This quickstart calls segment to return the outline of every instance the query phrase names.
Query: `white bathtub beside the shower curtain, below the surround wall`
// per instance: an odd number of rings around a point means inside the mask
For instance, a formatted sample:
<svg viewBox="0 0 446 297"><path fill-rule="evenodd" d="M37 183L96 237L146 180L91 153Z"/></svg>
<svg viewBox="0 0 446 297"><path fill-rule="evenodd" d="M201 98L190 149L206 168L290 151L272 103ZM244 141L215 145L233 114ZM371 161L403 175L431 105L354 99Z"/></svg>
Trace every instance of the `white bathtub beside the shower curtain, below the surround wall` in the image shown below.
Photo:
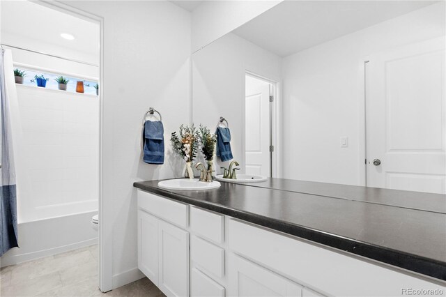
<svg viewBox="0 0 446 297"><path fill-rule="evenodd" d="M91 227L91 217L98 211L22 222L19 246L0 257L1 267L75 250L98 242L98 232Z"/></svg>

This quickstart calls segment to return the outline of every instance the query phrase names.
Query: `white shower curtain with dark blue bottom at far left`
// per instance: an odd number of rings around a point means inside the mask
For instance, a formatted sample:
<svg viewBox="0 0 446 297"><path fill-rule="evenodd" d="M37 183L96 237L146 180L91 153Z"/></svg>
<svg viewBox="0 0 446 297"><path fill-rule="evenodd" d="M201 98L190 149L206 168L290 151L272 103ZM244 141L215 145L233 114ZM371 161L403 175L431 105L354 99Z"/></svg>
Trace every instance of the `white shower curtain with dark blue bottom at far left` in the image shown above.
<svg viewBox="0 0 446 297"><path fill-rule="evenodd" d="M17 190L13 141L10 125L9 102L6 96L5 50L0 56L0 146L1 146L1 184L0 184L0 256L18 247L17 243ZM12 73L10 73L12 75Z"/></svg>

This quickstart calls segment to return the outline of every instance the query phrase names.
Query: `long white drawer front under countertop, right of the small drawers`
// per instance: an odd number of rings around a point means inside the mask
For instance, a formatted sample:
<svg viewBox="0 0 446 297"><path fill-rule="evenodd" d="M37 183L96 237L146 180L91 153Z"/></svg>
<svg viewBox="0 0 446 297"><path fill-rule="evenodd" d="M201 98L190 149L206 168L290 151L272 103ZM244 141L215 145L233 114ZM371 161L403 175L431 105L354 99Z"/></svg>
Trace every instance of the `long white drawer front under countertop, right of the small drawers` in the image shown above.
<svg viewBox="0 0 446 297"><path fill-rule="evenodd" d="M229 248L295 282L328 296L401 296L401 288L438 284L351 257L286 234L231 219ZM307 291L305 294L309 294Z"/></svg>

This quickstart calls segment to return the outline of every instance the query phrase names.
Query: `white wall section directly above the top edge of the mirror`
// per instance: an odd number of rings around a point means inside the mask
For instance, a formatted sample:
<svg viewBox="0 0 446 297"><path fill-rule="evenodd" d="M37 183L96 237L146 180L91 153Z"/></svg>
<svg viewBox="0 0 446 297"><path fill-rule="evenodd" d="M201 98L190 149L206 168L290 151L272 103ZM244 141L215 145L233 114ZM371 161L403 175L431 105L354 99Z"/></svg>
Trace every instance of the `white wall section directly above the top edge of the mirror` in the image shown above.
<svg viewBox="0 0 446 297"><path fill-rule="evenodd" d="M192 52L282 1L203 1L192 12Z"/></svg>

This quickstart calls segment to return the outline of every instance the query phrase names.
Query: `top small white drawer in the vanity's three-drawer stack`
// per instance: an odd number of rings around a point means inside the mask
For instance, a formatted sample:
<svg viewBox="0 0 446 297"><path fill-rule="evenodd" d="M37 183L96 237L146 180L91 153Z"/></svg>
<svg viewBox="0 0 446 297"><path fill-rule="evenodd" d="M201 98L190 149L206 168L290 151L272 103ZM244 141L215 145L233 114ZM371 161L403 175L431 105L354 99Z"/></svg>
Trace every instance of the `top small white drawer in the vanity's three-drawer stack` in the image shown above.
<svg viewBox="0 0 446 297"><path fill-rule="evenodd" d="M215 243L224 241L224 215L191 206L190 228Z"/></svg>

